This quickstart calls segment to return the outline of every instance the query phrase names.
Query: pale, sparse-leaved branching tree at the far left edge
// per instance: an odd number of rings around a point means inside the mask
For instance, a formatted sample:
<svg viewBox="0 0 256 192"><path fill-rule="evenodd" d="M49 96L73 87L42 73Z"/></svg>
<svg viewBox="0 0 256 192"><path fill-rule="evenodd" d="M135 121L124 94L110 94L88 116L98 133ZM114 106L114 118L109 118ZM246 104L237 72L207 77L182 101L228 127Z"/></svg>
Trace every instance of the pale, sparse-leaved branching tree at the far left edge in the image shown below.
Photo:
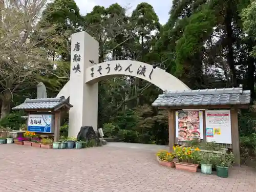
<svg viewBox="0 0 256 192"><path fill-rule="evenodd" d="M53 27L40 29L37 25L46 0L6 1L2 9L0 51L1 118L9 111L13 96L35 86L36 77L52 61L47 51L38 45L48 38ZM40 39L35 38L40 32ZM56 39L61 38L55 36ZM52 45L49 45L52 46Z"/></svg>

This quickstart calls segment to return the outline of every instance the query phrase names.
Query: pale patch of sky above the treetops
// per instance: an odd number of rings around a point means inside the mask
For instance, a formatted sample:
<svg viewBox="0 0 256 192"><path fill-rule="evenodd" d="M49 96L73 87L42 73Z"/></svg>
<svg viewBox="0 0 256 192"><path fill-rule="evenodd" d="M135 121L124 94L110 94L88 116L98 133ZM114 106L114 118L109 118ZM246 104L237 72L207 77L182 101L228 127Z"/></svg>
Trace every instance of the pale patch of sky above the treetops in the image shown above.
<svg viewBox="0 0 256 192"><path fill-rule="evenodd" d="M168 12L172 6L172 0L75 0L75 2L80 9L80 14L82 15L86 15L87 13L91 12L93 7L96 5L109 7L114 3L118 3L120 6L130 8L127 10L127 12L131 13L138 4L146 2L153 6L161 24L165 24L167 22L169 18Z"/></svg>

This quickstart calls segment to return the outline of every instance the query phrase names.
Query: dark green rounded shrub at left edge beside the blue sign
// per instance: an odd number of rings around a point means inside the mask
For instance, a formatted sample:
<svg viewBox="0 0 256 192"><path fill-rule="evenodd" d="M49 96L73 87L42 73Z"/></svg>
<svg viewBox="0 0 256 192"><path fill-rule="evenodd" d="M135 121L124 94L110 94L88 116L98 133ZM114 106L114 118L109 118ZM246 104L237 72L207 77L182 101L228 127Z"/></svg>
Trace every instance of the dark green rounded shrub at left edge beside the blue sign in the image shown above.
<svg viewBox="0 0 256 192"><path fill-rule="evenodd" d="M26 122L26 119L22 117L23 115L23 112L10 113L0 120L0 126L10 128L12 130L19 130Z"/></svg>

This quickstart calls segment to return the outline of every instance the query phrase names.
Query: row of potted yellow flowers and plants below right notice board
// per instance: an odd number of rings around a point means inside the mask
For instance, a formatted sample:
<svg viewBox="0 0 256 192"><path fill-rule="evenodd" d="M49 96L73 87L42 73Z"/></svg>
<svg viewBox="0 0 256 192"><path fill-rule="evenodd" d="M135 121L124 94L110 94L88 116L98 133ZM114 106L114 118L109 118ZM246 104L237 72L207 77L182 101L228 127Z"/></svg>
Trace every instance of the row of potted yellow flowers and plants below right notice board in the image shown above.
<svg viewBox="0 0 256 192"><path fill-rule="evenodd" d="M212 165L216 166L217 176L228 177L228 167L233 163L234 156L232 153L208 153L201 151L198 147L174 146L174 153L161 150L157 153L159 164L175 167L179 170L197 172L201 163L201 172L203 174L212 173ZM174 161L177 158L178 161Z"/></svg>

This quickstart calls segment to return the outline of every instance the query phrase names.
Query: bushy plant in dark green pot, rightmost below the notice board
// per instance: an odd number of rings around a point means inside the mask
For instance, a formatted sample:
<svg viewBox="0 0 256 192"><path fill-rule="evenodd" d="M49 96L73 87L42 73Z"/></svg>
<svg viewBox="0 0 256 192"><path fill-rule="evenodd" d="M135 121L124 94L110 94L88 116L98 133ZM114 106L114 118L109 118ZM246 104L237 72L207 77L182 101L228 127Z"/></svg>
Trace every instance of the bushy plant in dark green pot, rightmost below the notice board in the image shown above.
<svg viewBox="0 0 256 192"><path fill-rule="evenodd" d="M232 166L234 161L233 153L218 154L216 160L217 176L227 178L228 168Z"/></svg>

